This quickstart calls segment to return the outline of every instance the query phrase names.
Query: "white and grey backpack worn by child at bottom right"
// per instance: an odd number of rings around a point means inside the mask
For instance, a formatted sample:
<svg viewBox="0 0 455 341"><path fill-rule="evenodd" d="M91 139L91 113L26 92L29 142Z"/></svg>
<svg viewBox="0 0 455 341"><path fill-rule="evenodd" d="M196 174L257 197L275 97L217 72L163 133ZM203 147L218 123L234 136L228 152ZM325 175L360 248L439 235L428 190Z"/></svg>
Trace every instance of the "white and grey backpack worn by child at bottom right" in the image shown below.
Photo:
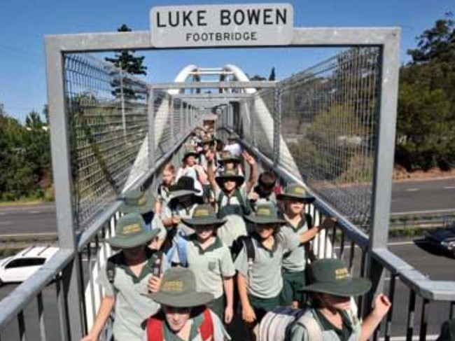
<svg viewBox="0 0 455 341"><path fill-rule="evenodd" d="M308 309L292 309L288 307L276 307L265 314L259 324L257 341L288 341L292 328L301 324L307 330L308 340L323 341L321 326Z"/></svg>

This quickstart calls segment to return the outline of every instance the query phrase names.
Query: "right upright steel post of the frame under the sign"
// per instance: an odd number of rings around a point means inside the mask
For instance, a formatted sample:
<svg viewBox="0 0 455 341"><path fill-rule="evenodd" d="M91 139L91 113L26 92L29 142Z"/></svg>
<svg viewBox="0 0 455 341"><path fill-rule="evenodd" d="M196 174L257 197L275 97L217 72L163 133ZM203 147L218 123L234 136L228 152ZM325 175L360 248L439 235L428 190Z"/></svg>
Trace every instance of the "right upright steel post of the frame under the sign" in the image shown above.
<svg viewBox="0 0 455 341"><path fill-rule="evenodd" d="M372 250L386 249L392 193L393 150L398 102L398 73L400 68L400 33L391 31L381 47L379 79L379 113L377 118L377 152L374 160L372 212L367 254L367 278L372 280L372 291L366 296L363 315L372 307L375 295L384 284L384 267L372 257Z"/></svg>

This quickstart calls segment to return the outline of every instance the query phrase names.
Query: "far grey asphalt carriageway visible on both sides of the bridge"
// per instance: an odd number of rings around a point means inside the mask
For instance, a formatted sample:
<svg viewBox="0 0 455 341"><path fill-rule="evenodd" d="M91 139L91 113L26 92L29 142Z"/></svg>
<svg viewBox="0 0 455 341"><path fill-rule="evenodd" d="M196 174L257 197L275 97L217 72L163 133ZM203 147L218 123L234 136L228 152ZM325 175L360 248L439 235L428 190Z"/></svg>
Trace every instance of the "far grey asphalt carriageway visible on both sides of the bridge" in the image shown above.
<svg viewBox="0 0 455 341"><path fill-rule="evenodd" d="M455 178L393 183L391 212L455 211ZM0 236L57 232L52 204L0 207Z"/></svg>

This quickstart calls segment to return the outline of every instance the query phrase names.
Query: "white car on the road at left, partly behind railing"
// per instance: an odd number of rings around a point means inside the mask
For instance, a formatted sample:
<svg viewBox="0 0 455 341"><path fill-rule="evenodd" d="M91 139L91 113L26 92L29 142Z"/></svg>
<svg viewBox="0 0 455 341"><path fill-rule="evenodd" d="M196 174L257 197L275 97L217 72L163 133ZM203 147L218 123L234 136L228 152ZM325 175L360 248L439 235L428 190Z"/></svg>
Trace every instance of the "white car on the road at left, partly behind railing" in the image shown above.
<svg viewBox="0 0 455 341"><path fill-rule="evenodd" d="M0 260L0 285L21 282L34 274L59 248L54 246L30 246L15 256Z"/></svg>

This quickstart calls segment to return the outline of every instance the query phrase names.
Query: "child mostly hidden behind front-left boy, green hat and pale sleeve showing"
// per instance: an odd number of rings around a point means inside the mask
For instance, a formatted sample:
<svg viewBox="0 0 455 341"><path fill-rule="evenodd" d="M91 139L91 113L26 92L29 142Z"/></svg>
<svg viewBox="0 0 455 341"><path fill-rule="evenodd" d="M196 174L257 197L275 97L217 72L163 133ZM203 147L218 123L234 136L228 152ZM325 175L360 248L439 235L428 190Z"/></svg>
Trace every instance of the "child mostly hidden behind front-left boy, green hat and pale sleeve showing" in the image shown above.
<svg viewBox="0 0 455 341"><path fill-rule="evenodd" d="M151 195L149 193L143 193L140 190L129 190L123 193L123 195L120 195L120 200L124 202L123 206L120 207L121 213L139 213L146 223L147 230L158 229L157 237L149 246L159 250L162 243L165 242L166 229L161 219L152 211L153 200Z"/></svg>

